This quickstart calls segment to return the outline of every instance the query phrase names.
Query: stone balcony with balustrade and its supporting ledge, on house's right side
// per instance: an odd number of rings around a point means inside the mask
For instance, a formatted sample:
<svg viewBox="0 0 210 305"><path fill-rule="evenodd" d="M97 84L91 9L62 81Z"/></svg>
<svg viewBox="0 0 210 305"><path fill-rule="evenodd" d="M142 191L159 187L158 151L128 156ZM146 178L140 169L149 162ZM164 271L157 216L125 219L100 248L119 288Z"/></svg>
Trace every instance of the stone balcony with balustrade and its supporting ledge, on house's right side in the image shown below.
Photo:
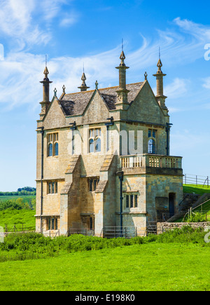
<svg viewBox="0 0 210 305"><path fill-rule="evenodd" d="M182 157L142 154L120 156L120 168L125 175L148 173L157 175L183 175Z"/></svg>

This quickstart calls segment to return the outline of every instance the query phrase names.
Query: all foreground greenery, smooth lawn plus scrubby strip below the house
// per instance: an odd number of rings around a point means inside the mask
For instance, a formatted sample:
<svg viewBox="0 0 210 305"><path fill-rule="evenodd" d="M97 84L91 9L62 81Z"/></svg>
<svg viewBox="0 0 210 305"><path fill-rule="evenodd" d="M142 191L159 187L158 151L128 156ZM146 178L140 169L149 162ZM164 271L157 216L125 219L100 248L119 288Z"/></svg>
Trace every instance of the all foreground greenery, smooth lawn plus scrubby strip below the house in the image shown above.
<svg viewBox="0 0 210 305"><path fill-rule="evenodd" d="M14 234L0 244L0 290L210 291L210 244L186 226L116 238Z"/></svg>

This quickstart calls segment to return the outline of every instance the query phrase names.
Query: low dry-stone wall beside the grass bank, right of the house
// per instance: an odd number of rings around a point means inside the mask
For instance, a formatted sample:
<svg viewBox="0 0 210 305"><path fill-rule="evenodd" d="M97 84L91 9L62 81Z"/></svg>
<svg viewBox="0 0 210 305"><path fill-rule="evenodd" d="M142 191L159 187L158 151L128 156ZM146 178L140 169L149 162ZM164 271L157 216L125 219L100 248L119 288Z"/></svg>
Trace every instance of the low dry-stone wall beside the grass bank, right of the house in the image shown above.
<svg viewBox="0 0 210 305"><path fill-rule="evenodd" d="M162 234L165 231L173 229L181 229L183 226L191 226L193 229L204 228L210 226L210 222L158 222L157 231L158 234Z"/></svg>

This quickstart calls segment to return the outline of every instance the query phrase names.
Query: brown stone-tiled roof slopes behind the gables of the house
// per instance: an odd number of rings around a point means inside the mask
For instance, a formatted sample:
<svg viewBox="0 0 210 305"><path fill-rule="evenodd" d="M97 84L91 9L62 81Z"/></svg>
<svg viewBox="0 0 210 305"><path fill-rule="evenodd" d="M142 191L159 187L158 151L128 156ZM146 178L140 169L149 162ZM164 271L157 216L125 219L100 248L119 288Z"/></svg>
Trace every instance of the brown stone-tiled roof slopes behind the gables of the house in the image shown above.
<svg viewBox="0 0 210 305"><path fill-rule="evenodd" d="M127 100L131 103L138 95L143 83L132 83L127 85L127 90L130 90L130 93L127 95ZM118 86L111 88L99 89L99 94L104 99L109 110L116 109L116 102L118 100ZM87 104L90 102L90 99L95 90L89 90L79 93L70 93L65 94L61 100L59 100L59 104L64 111L66 116L80 116L84 113Z"/></svg>

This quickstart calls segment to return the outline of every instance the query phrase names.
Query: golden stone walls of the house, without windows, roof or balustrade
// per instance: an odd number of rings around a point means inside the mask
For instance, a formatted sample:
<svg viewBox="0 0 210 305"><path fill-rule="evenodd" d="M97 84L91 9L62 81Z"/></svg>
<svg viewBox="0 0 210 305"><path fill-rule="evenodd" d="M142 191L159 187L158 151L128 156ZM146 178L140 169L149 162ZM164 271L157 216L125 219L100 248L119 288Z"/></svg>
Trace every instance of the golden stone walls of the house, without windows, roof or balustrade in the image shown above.
<svg viewBox="0 0 210 305"><path fill-rule="evenodd" d="M94 93L94 91L92 91ZM120 109L121 106L119 106ZM143 132L143 153L148 152L148 129L156 130L156 152L166 154L167 134L165 116L148 82L128 110L109 111L103 98L95 91L83 115L65 116L59 101L54 99L38 128L44 127L43 139L43 226L44 217L58 217L60 233L69 228L88 226L87 218L94 217L94 230L100 236L103 226L120 224L120 180L116 172L120 170L120 135L124 131L134 131L134 147L137 149L137 131ZM127 106L125 107L127 108ZM109 145L106 142L107 118L113 116L114 124L109 127ZM70 130L69 123L76 123L76 130ZM139 121L139 122L137 122ZM89 128L101 128L102 151L89 153ZM48 157L48 134L58 133L59 155ZM74 140L73 140L74 139ZM142 139L141 139L142 140ZM73 142L72 142L73 141ZM125 147L129 139L125 139ZM107 148L109 147L109 151ZM129 154L130 151L127 151ZM106 169L104 158L115 155ZM73 156L79 156L73 161ZM112 160L112 159L111 159ZM71 164L70 164L71 163ZM74 164L75 163L75 164ZM69 165L70 164L70 165ZM71 165L75 168L71 168ZM70 166L70 167L69 167ZM66 170L67 168L67 170ZM104 169L105 168L105 169ZM90 191L88 179L99 177L97 191ZM36 229L40 225L41 214L41 133L37 130L37 197ZM48 194L47 183L57 181L57 194ZM182 171L170 168L130 168L125 170L123 182L123 225L146 229L147 217L156 220L156 198L164 198L161 208L168 204L169 193L176 193L176 203L183 196ZM126 208L126 195L138 194L138 207ZM59 219L60 217L60 219Z"/></svg>

